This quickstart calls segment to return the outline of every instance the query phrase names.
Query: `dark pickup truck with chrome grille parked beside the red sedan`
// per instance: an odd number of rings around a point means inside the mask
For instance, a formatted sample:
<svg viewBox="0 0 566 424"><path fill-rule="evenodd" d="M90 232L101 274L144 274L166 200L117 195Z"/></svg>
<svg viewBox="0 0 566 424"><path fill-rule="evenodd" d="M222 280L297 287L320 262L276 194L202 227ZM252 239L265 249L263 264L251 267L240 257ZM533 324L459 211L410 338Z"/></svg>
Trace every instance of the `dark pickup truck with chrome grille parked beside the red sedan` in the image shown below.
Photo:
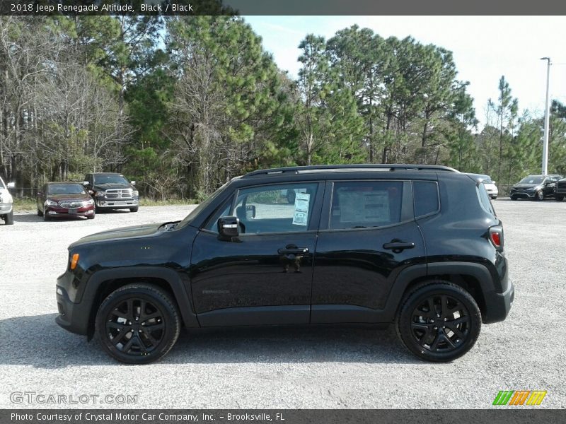
<svg viewBox="0 0 566 424"><path fill-rule="evenodd" d="M139 192L134 187L135 184L135 181L128 181L124 175L114 172L87 174L83 182L96 202L97 211L129 209L130 212L137 212Z"/></svg>

